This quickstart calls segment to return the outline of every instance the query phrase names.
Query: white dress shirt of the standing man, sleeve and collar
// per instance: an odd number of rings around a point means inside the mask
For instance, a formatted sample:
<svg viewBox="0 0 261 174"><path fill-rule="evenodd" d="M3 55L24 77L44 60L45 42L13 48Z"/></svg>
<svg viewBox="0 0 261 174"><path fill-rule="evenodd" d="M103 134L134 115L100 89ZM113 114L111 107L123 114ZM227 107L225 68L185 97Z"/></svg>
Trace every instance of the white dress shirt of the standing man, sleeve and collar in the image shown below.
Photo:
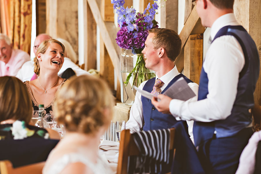
<svg viewBox="0 0 261 174"><path fill-rule="evenodd" d="M213 23L211 38L228 25L239 25L233 13L225 14ZM226 119L235 102L239 73L244 64L244 53L235 37L225 35L215 39L203 62L209 79L207 98L196 102L173 99L169 104L171 114L177 120L211 122Z"/></svg>

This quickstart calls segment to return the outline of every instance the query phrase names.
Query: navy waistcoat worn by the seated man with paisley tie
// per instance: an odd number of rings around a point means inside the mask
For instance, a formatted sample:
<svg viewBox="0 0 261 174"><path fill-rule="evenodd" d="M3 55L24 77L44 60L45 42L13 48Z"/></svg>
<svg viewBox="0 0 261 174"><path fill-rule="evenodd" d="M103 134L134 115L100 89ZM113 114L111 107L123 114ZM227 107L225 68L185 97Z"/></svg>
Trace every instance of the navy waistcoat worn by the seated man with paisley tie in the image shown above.
<svg viewBox="0 0 261 174"><path fill-rule="evenodd" d="M188 79L183 74L179 74L174 77L168 84L168 86L162 91L162 93L167 90L177 79L180 77L184 77L187 83L193 82ZM152 88L155 84L155 77L149 79L143 87L143 90L148 92L152 91ZM177 123L177 120L171 114L163 114L159 112L153 104L151 104L151 100L146 97L141 97L142 100L142 109L143 109L143 118L144 118L144 131L149 130L157 130L157 129L167 129L171 128L174 124Z"/></svg>

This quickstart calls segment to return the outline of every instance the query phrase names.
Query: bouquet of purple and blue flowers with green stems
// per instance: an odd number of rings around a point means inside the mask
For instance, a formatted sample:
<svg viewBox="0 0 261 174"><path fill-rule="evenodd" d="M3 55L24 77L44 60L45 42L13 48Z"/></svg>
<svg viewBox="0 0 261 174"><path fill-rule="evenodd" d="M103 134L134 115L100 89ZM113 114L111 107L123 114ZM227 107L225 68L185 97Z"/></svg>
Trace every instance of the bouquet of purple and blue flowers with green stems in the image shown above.
<svg viewBox="0 0 261 174"><path fill-rule="evenodd" d="M111 0L113 8L116 9L118 14L118 24L120 30L117 32L116 43L120 48L132 50L134 54L137 54L137 62L131 73L129 73L124 84L128 84L131 76L133 75L132 85L139 86L142 81L155 77L154 73L151 73L148 68L145 67L145 61L143 59L142 50L144 43L148 36L148 30L151 28L158 28L158 23L155 21L154 16L158 9L157 0L153 1L153 4L148 3L144 13L136 13L136 10L131 8L124 8L124 0Z"/></svg>

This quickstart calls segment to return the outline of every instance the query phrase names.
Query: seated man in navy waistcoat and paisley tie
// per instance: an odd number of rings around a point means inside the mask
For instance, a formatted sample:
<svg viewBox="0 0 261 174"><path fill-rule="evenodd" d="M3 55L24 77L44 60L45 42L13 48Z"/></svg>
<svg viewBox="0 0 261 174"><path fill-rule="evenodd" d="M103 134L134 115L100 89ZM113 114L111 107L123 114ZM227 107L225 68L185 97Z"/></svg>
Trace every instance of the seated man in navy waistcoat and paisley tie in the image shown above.
<svg viewBox="0 0 261 174"><path fill-rule="evenodd" d="M191 89L197 94L198 85L180 74L174 64L180 50L181 39L175 31L166 28L149 30L142 53L144 54L146 68L154 70L156 77L142 82L139 89L157 95L164 92L177 79L184 77ZM197 100L197 97L193 99ZM136 92L126 129L130 129L131 133L141 131L141 129L144 131L166 129L171 128L176 122L177 120L173 115L160 113L151 104L150 99ZM192 135L193 122L188 124L189 134Z"/></svg>

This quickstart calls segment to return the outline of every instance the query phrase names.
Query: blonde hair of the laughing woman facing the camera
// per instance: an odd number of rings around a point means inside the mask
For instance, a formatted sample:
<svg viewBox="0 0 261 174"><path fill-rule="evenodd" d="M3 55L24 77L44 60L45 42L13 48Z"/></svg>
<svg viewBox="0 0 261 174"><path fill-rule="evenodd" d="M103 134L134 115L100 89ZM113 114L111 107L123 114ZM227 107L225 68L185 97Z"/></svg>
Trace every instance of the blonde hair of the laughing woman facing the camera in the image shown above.
<svg viewBox="0 0 261 174"><path fill-rule="evenodd" d="M48 39L48 40L43 41L43 42L39 45L39 47L38 47L38 49L37 49L37 52L36 52L36 56L35 56L35 58L34 58L34 66L35 66L34 72L35 72L35 74L38 75L38 76L40 75L40 66L39 66L39 61L38 61L38 59L37 59L37 54L38 54L39 52L41 52L42 54L44 54L51 43L57 43L57 44L59 44L59 45L62 47L63 52L65 52L65 47L64 47L64 45L63 45L61 42L59 42L59 41L57 41L57 40L55 40L55 39Z"/></svg>

